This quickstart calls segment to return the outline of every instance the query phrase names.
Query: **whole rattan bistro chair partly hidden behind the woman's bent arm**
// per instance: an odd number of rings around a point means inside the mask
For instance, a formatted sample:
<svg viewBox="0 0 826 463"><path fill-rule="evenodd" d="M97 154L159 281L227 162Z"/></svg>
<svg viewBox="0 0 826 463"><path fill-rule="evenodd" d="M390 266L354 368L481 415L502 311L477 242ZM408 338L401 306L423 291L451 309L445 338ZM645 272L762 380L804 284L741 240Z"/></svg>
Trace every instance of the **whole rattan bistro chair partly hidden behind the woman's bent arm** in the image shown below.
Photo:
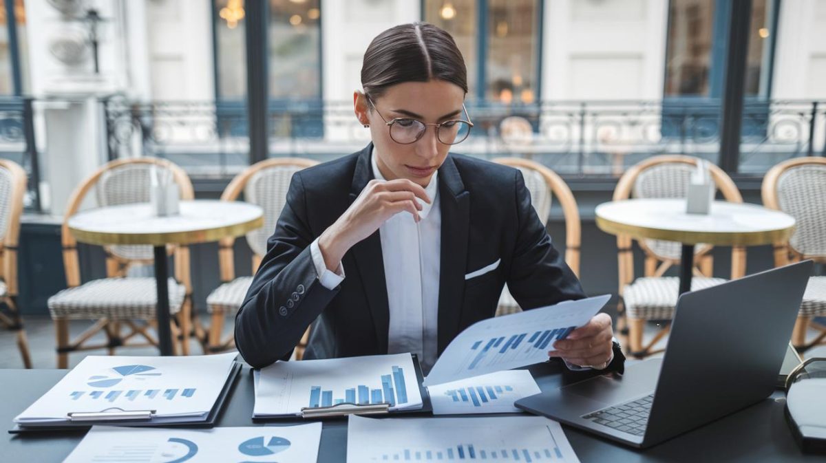
<svg viewBox="0 0 826 463"><path fill-rule="evenodd" d="M244 194L244 201L261 206L264 226L246 234L247 244L253 251L252 273L254 274L267 253L267 239L273 233L278 216L287 202L287 189L292 174L303 168L316 165L317 162L303 158L273 158L255 163L238 174L221 195L222 201L236 201ZM219 249L219 266L221 267L221 286L207 296L207 310L210 313L210 328L207 339L208 352L221 352L234 347L232 334L222 338L224 320L227 315L235 315L244 296L252 284L252 276L235 277L234 253L232 247L235 238L221 239ZM301 359L306 347L309 329L296 347L296 357Z"/></svg>

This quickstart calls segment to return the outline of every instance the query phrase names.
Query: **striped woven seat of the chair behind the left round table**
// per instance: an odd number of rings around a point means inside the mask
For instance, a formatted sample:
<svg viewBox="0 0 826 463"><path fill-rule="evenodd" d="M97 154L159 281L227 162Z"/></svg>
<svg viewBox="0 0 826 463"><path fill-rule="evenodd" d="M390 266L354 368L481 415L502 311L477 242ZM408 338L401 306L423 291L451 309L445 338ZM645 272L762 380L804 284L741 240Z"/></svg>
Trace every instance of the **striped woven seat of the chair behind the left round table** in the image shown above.
<svg viewBox="0 0 826 463"><path fill-rule="evenodd" d="M169 313L183 305L186 287L169 279ZM155 319L158 303L153 277L102 278L49 298L53 319Z"/></svg>

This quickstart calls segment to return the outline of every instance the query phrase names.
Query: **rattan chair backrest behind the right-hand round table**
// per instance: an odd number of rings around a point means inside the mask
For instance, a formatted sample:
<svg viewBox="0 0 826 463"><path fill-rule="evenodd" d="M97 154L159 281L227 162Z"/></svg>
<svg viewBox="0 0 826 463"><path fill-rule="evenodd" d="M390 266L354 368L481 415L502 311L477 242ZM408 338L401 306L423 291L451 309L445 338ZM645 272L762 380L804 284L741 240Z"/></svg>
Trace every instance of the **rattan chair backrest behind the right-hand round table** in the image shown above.
<svg viewBox="0 0 826 463"><path fill-rule="evenodd" d="M691 182L691 173L697 168L700 158L676 154L653 156L629 168L619 178L614 190L614 201L635 198L685 198ZM730 202L743 202L743 196L723 169L708 163L716 190ZM617 236L619 248L619 291L634 279L634 260L631 253L631 239ZM638 241L646 254L646 276L659 276L668 267L680 262L681 243L657 239ZM711 246L697 246L695 254L705 256ZM743 248L733 248L732 277L745 274L745 252ZM657 268L657 263L661 265ZM708 261L710 262L710 261ZM710 273L710 265L705 270ZM710 276L710 275L706 275Z"/></svg>

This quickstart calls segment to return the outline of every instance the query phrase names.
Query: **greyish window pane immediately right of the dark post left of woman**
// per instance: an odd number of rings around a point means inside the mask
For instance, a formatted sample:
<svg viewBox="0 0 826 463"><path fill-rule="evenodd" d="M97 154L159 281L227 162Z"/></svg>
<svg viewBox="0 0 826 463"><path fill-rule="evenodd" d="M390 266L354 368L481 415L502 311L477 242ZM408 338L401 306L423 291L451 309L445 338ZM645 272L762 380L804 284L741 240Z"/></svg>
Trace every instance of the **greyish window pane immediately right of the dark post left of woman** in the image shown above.
<svg viewBox="0 0 826 463"><path fill-rule="evenodd" d="M270 0L270 97L321 97L320 20L319 0Z"/></svg>

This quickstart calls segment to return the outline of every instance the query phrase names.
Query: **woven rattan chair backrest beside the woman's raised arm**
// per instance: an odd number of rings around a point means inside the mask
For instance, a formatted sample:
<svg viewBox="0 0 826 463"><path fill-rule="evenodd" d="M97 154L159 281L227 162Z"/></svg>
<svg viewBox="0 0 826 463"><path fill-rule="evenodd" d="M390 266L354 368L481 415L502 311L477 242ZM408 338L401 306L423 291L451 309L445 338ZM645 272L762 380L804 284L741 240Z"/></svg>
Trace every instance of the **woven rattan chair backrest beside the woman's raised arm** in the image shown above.
<svg viewBox="0 0 826 463"><path fill-rule="evenodd" d="M316 161L305 158L265 159L235 176L221 195L222 201L236 201L241 193L244 193L244 201L263 209L263 228L246 234L249 248L254 253L253 272L257 270L263 255L267 253L267 239L273 234L278 217L287 203L287 190L292 174L316 164ZM235 278L233 243L234 238L221 240L221 281L231 281Z"/></svg>

